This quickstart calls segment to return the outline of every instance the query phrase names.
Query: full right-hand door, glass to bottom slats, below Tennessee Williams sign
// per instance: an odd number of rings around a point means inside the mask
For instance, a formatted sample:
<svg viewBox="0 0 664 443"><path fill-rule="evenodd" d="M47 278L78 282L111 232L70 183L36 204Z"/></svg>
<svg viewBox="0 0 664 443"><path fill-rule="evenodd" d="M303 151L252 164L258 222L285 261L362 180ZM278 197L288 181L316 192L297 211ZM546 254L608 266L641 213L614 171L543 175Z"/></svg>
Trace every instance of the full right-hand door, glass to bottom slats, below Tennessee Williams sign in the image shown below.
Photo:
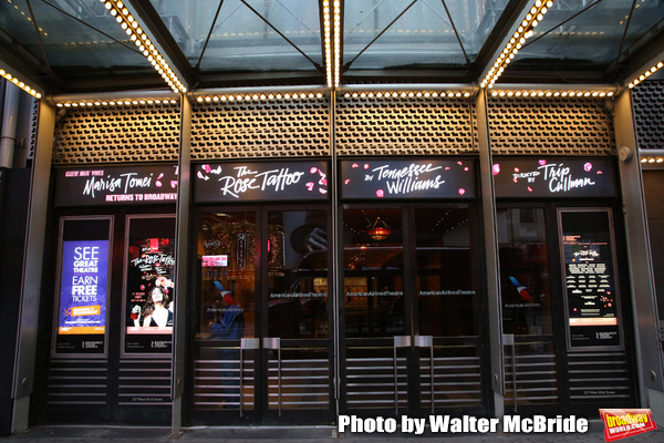
<svg viewBox="0 0 664 443"><path fill-rule="evenodd" d="M415 229L421 406L432 413L483 404L477 250L467 207L418 207Z"/></svg>

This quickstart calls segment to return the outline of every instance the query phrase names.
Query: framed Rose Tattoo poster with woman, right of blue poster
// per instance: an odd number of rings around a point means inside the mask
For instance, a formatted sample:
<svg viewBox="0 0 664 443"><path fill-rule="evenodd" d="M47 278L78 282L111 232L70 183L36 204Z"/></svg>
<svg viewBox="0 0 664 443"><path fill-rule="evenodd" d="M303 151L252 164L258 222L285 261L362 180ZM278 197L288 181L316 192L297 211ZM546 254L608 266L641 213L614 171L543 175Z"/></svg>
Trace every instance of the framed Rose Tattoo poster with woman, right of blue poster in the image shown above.
<svg viewBox="0 0 664 443"><path fill-rule="evenodd" d="M127 216L124 354L173 351L175 215Z"/></svg>

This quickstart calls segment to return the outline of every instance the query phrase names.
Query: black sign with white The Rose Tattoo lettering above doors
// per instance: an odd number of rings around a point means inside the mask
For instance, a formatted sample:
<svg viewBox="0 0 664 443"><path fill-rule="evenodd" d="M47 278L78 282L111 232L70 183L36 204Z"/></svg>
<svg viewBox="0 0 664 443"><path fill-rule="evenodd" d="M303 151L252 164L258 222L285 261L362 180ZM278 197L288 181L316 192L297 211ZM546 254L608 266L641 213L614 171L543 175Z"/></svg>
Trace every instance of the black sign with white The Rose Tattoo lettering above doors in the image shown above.
<svg viewBox="0 0 664 443"><path fill-rule="evenodd" d="M328 163L218 163L195 168L196 202L328 198Z"/></svg>

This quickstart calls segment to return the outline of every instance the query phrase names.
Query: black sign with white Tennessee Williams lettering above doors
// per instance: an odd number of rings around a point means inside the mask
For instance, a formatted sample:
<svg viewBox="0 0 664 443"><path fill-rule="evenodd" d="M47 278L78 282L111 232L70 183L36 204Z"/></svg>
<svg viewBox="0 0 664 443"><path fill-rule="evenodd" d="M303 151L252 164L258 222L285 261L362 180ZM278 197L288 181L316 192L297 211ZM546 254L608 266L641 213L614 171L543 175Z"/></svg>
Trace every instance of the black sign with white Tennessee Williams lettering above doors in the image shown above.
<svg viewBox="0 0 664 443"><path fill-rule="evenodd" d="M470 159L342 161L342 198L474 198Z"/></svg>

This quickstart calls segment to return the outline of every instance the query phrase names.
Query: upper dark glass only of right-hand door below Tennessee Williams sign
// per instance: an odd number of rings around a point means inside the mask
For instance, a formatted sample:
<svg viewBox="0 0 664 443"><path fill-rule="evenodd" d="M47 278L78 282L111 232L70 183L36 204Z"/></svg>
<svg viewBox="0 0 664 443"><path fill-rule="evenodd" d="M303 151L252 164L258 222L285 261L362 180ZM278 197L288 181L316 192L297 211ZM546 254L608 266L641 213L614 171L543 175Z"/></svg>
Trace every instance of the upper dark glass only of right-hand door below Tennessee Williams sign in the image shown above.
<svg viewBox="0 0 664 443"><path fill-rule="evenodd" d="M467 208L415 210L421 336L477 334L471 226Z"/></svg>

